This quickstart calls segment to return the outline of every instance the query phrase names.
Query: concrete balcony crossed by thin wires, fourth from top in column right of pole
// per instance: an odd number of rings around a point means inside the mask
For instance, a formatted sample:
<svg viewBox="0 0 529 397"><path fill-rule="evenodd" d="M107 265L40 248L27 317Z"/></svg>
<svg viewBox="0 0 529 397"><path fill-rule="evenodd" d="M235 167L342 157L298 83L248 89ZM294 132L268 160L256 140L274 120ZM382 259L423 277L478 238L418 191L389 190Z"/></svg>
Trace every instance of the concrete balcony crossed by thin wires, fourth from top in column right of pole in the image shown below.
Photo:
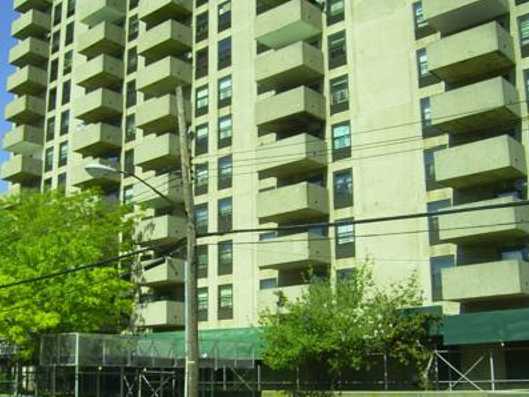
<svg viewBox="0 0 529 397"><path fill-rule="evenodd" d="M256 149L258 171L265 178L303 175L327 166L327 144L299 134Z"/></svg>

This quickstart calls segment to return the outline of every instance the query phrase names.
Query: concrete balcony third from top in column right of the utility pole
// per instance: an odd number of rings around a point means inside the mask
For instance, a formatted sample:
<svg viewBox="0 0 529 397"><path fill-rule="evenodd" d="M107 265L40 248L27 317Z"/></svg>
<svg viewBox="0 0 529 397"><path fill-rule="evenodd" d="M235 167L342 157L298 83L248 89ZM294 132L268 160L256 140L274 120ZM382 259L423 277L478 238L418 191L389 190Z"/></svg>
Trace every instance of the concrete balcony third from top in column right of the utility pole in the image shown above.
<svg viewBox="0 0 529 397"><path fill-rule="evenodd" d="M255 108L259 132L296 132L325 120L325 97L308 88L298 87L262 99Z"/></svg>

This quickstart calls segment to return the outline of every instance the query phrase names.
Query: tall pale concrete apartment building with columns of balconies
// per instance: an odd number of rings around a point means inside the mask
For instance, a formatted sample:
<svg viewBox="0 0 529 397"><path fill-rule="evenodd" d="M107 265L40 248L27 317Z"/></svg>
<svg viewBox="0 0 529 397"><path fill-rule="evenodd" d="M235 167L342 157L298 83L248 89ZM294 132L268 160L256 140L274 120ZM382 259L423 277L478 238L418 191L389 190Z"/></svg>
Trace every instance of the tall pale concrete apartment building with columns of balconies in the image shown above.
<svg viewBox="0 0 529 397"><path fill-rule="evenodd" d="M1 177L143 206L137 327L183 327L175 88L193 131L201 329L255 325L276 292L374 264L416 273L444 341L510 376L529 315L525 207L352 219L526 198L529 1L14 0ZM101 163L130 176L93 175ZM485 324L485 326L483 326ZM474 326L476 328L471 329ZM469 328L470 327L470 328ZM502 328L503 327L503 328ZM481 330L481 331L480 331Z"/></svg>

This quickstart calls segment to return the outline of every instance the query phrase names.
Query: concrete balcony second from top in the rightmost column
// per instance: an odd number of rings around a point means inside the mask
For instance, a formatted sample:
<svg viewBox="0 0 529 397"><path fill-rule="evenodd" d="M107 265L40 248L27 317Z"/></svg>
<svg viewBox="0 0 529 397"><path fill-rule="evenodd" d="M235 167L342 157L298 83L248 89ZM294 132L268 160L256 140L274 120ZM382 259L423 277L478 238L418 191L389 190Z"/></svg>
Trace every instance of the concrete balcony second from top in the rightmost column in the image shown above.
<svg viewBox="0 0 529 397"><path fill-rule="evenodd" d="M515 64L513 39L496 22L445 37L426 52L430 72L451 84L502 75Z"/></svg>

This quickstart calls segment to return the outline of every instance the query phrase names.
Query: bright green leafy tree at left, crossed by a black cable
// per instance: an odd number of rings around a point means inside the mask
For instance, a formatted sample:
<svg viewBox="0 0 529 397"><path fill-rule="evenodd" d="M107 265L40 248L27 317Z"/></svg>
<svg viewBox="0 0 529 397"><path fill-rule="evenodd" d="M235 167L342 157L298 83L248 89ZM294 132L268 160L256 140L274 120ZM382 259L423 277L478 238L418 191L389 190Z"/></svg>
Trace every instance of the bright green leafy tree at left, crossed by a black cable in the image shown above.
<svg viewBox="0 0 529 397"><path fill-rule="evenodd" d="M130 208L95 192L4 199L0 285L128 251L133 228ZM0 338L15 344L22 358L32 359L45 333L120 331L133 307L132 284L122 276L120 266L0 289Z"/></svg>

